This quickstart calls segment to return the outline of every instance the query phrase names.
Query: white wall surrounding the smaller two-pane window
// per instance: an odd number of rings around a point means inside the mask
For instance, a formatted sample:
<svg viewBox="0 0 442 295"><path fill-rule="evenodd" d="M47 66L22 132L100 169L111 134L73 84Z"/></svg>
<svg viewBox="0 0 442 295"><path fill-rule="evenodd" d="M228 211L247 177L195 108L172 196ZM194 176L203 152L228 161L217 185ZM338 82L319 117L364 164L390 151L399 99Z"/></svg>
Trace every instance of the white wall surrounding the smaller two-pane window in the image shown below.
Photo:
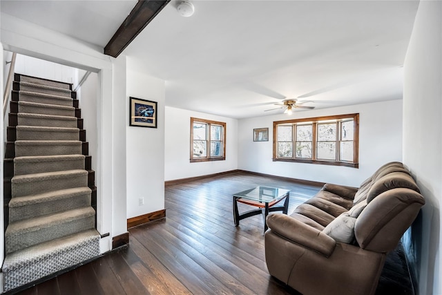
<svg viewBox="0 0 442 295"><path fill-rule="evenodd" d="M191 117L226 123L226 160L190 162ZM238 120L166 107L164 179L177 180L238 169Z"/></svg>

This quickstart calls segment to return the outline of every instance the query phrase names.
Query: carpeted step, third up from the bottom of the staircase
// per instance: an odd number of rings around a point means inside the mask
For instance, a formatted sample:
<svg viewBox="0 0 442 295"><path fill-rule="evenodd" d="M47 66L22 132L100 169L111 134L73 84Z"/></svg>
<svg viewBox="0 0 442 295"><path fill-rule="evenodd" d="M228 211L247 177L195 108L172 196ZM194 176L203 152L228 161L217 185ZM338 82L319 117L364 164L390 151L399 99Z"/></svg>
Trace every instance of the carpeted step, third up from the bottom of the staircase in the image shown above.
<svg viewBox="0 0 442 295"><path fill-rule="evenodd" d="M91 193L88 187L75 187L12 198L8 205L10 222L88 207Z"/></svg>

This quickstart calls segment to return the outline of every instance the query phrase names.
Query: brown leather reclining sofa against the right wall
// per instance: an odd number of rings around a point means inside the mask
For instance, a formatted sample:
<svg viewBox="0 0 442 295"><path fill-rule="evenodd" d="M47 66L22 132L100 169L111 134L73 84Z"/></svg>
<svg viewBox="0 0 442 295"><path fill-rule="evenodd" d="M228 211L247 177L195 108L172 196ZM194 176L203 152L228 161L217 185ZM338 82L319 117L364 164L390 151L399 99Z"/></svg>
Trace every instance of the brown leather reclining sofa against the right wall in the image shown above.
<svg viewBox="0 0 442 295"><path fill-rule="evenodd" d="M269 273L305 295L374 294L386 254L423 204L400 162L385 164L359 189L325 184L290 216L267 216Z"/></svg>

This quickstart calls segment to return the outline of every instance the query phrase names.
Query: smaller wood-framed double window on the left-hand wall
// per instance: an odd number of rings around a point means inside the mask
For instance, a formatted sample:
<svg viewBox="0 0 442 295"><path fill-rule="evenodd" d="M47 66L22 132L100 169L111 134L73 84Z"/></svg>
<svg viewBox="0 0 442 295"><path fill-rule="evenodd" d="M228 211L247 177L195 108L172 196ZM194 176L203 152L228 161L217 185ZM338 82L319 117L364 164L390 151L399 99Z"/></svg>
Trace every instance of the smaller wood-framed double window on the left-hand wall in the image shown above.
<svg viewBox="0 0 442 295"><path fill-rule="evenodd" d="M191 162L226 160L226 123L191 117Z"/></svg>

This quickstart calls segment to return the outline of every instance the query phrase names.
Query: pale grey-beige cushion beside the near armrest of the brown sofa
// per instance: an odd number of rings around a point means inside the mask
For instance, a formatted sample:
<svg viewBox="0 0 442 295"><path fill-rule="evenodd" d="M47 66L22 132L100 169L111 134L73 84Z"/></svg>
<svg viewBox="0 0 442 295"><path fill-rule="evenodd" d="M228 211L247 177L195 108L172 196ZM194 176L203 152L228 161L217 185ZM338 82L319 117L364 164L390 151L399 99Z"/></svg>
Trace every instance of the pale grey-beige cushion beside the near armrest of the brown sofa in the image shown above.
<svg viewBox="0 0 442 295"><path fill-rule="evenodd" d="M323 233L336 240L350 244L354 241L354 225L356 218L349 216L347 212L340 214L335 220L329 223Z"/></svg>

